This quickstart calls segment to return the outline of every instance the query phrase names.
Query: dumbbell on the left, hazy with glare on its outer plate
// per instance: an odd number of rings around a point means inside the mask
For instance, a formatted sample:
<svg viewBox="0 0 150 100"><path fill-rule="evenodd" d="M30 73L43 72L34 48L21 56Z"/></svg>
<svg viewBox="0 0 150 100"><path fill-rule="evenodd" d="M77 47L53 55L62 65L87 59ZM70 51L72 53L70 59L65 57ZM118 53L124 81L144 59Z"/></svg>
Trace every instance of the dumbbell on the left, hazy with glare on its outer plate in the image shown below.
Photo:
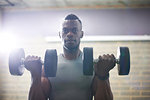
<svg viewBox="0 0 150 100"><path fill-rule="evenodd" d="M25 65L24 49L19 48L10 52L9 54L9 72L11 75L21 76L24 73ZM57 71L57 51L55 49L48 49L45 52L44 71L46 77L55 77Z"/></svg>

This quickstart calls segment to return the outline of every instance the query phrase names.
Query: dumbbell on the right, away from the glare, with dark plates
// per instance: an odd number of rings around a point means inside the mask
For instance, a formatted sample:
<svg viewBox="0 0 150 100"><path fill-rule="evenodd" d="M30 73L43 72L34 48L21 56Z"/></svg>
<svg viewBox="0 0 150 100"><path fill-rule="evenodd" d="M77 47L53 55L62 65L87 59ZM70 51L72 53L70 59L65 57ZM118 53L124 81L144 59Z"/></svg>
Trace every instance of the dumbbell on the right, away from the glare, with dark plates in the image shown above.
<svg viewBox="0 0 150 100"><path fill-rule="evenodd" d="M83 48L83 73L84 75L93 75L93 48ZM130 72L130 52L128 47L118 47L117 58L115 63L118 64L118 74L128 75Z"/></svg>

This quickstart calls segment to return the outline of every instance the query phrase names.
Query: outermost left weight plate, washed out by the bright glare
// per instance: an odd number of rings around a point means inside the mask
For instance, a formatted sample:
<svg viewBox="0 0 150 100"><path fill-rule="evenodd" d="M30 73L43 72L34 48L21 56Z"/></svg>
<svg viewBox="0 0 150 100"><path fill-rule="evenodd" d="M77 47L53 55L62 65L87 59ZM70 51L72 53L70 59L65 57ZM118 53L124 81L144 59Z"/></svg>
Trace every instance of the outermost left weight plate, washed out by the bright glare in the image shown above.
<svg viewBox="0 0 150 100"><path fill-rule="evenodd" d="M21 76L24 73L24 66L21 64L21 58L25 58L22 48L14 49L9 54L9 72L11 75Z"/></svg>

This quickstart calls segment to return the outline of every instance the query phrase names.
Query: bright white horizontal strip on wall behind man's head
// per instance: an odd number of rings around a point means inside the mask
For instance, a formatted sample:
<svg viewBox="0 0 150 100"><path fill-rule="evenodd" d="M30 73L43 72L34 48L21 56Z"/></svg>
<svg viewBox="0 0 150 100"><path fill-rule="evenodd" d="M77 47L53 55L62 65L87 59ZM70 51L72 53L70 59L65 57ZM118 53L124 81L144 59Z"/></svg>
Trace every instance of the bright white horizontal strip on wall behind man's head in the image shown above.
<svg viewBox="0 0 150 100"><path fill-rule="evenodd" d="M58 36L47 36L45 40L47 42L61 42L61 39ZM81 41L150 41L150 35L83 36Z"/></svg>

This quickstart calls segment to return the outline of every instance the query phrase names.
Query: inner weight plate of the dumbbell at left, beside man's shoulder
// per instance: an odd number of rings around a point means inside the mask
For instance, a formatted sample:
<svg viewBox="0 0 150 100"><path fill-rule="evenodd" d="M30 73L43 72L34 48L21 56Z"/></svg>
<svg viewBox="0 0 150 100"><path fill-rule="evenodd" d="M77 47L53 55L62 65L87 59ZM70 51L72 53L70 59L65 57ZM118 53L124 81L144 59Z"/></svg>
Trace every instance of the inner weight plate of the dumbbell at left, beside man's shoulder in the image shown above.
<svg viewBox="0 0 150 100"><path fill-rule="evenodd" d="M46 50L44 59L44 71L46 77L56 77L57 72L57 51Z"/></svg>

